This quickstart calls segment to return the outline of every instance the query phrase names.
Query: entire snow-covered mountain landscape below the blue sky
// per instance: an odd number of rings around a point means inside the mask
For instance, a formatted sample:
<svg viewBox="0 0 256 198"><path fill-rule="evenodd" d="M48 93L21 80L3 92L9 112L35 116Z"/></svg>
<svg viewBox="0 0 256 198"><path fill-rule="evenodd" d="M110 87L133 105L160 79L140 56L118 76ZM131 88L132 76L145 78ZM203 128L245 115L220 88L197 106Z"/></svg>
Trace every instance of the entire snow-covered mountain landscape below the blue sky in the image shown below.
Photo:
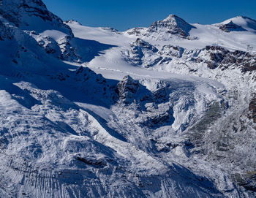
<svg viewBox="0 0 256 198"><path fill-rule="evenodd" d="M255 31L1 0L0 197L255 197Z"/></svg>

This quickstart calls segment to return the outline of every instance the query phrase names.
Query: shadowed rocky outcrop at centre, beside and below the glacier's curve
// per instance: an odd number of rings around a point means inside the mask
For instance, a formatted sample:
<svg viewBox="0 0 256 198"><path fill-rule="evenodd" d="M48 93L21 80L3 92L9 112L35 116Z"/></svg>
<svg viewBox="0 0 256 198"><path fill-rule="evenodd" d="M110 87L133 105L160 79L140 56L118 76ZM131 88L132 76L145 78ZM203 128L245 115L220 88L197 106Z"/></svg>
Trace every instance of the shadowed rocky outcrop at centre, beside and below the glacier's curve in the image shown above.
<svg viewBox="0 0 256 198"><path fill-rule="evenodd" d="M180 83L181 87L190 86L184 82ZM133 80L132 77L126 76L117 85L116 92L119 96L119 109L127 112L127 115L135 120L135 123L140 127L146 127L148 129L158 129L162 126L177 127L179 131L183 131L187 128L188 123L175 123L175 113L183 111L184 102L187 103L187 115L184 115L184 120L192 121L195 117L195 112L190 112L190 109L194 108L194 96L189 91L180 91L177 93L173 90L172 86L168 82L157 82L159 88L154 91L149 91L145 86L140 84L138 80ZM176 85L174 85L176 86ZM193 86L193 85L192 85ZM175 95L172 97L171 95ZM176 103L176 100L181 97L183 102ZM140 112L138 115L134 115L135 112ZM136 113L137 114L137 113Z"/></svg>

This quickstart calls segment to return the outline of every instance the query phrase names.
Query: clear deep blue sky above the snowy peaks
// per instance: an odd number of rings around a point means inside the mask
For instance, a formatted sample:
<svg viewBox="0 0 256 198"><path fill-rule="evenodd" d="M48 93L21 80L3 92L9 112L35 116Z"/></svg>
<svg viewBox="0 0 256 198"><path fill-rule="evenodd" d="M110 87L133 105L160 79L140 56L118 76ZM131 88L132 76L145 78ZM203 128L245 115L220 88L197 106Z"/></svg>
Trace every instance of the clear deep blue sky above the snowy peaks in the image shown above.
<svg viewBox="0 0 256 198"><path fill-rule="evenodd" d="M124 31L149 26L169 14L189 23L219 23L237 15L256 20L256 0L42 0L63 20L78 20L85 26L108 26Z"/></svg>

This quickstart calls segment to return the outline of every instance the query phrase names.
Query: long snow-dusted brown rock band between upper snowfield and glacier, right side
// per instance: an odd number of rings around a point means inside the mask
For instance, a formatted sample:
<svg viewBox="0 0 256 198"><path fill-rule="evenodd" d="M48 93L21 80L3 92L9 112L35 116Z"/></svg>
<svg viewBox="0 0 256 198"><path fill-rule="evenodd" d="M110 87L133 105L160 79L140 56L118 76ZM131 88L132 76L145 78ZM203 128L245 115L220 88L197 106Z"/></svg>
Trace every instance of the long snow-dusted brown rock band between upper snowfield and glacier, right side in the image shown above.
<svg viewBox="0 0 256 198"><path fill-rule="evenodd" d="M143 67L186 61L187 66L189 63L206 63L209 69L233 67L241 69L241 72L256 70L255 55L241 50L230 51L220 46L206 46L200 50L186 50L183 47L173 45L157 48L142 39L137 39L131 45L131 50L123 54L125 60Z"/></svg>

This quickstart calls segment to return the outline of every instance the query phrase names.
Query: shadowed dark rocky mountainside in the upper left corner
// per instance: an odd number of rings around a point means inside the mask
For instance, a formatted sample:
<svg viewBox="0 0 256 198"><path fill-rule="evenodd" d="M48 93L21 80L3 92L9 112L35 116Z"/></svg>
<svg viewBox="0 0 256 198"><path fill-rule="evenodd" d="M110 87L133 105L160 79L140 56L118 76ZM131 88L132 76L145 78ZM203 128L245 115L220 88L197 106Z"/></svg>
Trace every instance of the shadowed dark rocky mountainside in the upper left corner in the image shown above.
<svg viewBox="0 0 256 198"><path fill-rule="evenodd" d="M0 39L10 37L13 31L8 33L7 26L14 25L33 37L50 56L66 61L80 60L75 47L70 44L73 39L72 30L61 18L49 12L41 0L0 0L0 15L2 21L10 23L4 25L1 22L0 26L5 26L5 29L1 31ZM43 35L48 30L56 31L59 38Z"/></svg>

